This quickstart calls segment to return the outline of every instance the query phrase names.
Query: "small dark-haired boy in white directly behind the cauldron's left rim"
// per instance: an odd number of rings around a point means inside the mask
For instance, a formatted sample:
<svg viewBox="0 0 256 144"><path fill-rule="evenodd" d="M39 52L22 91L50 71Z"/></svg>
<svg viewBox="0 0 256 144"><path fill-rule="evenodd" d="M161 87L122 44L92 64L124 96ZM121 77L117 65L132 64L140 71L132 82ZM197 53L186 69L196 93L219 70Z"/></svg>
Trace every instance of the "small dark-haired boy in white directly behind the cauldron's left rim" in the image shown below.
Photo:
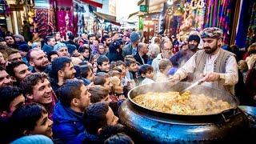
<svg viewBox="0 0 256 144"><path fill-rule="evenodd" d="M149 84L154 83L154 73L153 73L153 67L150 65L142 65L139 70L138 74L140 75L140 78L142 78L141 84Z"/></svg>

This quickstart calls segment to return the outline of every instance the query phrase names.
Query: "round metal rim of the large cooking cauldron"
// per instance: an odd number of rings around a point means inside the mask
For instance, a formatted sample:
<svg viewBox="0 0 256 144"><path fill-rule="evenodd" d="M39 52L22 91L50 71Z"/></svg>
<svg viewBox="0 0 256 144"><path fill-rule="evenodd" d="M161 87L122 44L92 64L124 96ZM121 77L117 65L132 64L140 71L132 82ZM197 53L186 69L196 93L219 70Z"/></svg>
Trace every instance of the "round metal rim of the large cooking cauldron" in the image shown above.
<svg viewBox="0 0 256 144"><path fill-rule="evenodd" d="M162 112L162 111L158 111L158 110L151 110L145 106L141 106L139 105L137 102L134 102L134 100L132 98L130 98L130 94L134 91L134 90L137 90L139 89L139 87L142 87L142 86L146 86L146 85L151 85L151 84L160 84L160 83L164 83L164 82L154 82L154 83L150 83L150 84L143 84L143 85L140 85L140 86L135 86L133 89L131 89L129 92L128 92L128 98L129 98L129 101L135 105L135 106L138 106L144 110L147 110L149 112L156 112L158 114L168 114L168 115L177 115L177 116L190 116L190 117L197 117L197 116L212 116L212 115L218 115L218 114L223 114L224 112L229 112L231 110L236 110L238 109L238 106L239 106L239 101L238 101L238 98L236 98L234 96L234 94L230 94L230 96L232 97L232 99L234 100L234 103L235 105L233 107L231 107L230 109L228 110L223 110L222 112L219 112L219 113L212 113L212 114L170 114L170 113L166 113L166 112ZM181 82L181 83L184 83L184 84L190 84L190 82ZM177 84L177 83L176 83ZM219 90L219 89L216 89L216 88L213 88L213 87L210 87L210 86L204 86L204 87L208 87L210 89L214 89L214 90Z"/></svg>

